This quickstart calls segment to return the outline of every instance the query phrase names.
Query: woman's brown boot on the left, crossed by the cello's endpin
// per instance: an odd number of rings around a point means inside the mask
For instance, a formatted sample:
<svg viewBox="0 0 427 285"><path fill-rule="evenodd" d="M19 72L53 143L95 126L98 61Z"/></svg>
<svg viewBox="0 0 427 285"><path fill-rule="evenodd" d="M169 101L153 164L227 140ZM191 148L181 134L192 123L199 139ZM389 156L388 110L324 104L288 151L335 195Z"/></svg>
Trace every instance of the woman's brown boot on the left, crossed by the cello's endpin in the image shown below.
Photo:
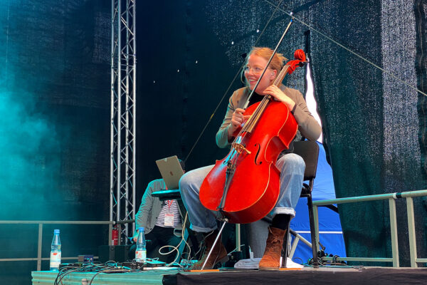
<svg viewBox="0 0 427 285"><path fill-rule="evenodd" d="M201 259L194 264L193 266L194 270L200 270L201 266L203 266L204 262L206 261L206 258L208 257L209 252L211 251L212 246L214 245L217 234L218 232L212 232L211 234L207 235L204 238L204 244L206 249ZM224 247L224 245L221 242L221 237L218 238L218 241L215 244L214 250L211 252L211 256L206 262L204 269L214 269L215 264L217 264L220 261L221 262L228 261L227 250L226 250L226 247Z"/></svg>

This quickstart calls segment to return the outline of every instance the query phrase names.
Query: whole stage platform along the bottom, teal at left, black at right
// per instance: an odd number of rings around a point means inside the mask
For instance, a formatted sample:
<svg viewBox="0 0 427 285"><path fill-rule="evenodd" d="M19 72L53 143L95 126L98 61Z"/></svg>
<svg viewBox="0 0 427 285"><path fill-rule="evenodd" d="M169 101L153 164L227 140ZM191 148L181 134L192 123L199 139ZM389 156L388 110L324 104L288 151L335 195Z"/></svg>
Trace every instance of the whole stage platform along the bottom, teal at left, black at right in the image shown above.
<svg viewBox="0 0 427 285"><path fill-rule="evenodd" d="M72 272L62 279L63 285L77 285L83 279L92 284L426 284L427 269L364 267L361 269L342 267L305 267L300 270L281 269L278 271L229 270L229 271L181 271L147 270L127 273L80 273ZM33 284L53 284L56 272L33 271ZM93 278L95 276L95 278ZM295 282L295 283L294 283ZM296 283L297 282L297 283Z"/></svg>

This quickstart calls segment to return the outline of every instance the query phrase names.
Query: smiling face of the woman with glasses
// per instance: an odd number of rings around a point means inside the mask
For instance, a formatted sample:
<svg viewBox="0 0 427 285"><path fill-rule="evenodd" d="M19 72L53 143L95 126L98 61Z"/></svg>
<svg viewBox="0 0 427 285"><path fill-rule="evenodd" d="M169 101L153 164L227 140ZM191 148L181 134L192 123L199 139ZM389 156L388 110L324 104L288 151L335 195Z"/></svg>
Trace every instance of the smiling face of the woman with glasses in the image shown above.
<svg viewBox="0 0 427 285"><path fill-rule="evenodd" d="M263 73L267 63L268 60L261 56L257 56L255 54L251 54L251 56L249 56L245 68L245 78L246 83L251 90L255 88L255 84ZM265 71L264 76L261 78L260 84L256 88L255 92L262 94L265 88L273 83L276 73L277 71L271 68L267 68L267 71Z"/></svg>

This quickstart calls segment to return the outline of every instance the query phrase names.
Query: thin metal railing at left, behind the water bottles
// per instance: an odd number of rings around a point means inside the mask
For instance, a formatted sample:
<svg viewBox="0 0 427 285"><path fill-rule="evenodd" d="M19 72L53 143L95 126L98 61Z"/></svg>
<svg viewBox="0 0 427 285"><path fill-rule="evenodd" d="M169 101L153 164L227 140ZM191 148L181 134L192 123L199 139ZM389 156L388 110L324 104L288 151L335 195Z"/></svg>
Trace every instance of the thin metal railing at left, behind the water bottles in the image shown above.
<svg viewBox="0 0 427 285"><path fill-rule="evenodd" d="M0 224L38 224L38 246L37 257L0 259L0 261L37 261L37 271L41 270L41 261L49 260L49 257L41 257L42 240L43 240L43 224L108 224L108 244L111 242L112 226L116 224L111 221L0 221ZM97 259L97 257L94 257ZM77 260L78 257L61 257L61 260Z"/></svg>

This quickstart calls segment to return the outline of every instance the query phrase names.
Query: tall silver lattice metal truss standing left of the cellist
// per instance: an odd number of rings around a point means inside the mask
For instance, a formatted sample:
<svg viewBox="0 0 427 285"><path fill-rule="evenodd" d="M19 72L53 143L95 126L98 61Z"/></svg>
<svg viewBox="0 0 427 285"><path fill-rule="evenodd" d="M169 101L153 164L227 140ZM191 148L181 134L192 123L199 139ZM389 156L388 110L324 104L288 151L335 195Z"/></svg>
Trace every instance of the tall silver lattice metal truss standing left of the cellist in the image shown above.
<svg viewBox="0 0 427 285"><path fill-rule="evenodd" d="M118 244L135 231L135 224L126 222L135 219L135 2L112 0L111 7L110 221L120 224Z"/></svg>

